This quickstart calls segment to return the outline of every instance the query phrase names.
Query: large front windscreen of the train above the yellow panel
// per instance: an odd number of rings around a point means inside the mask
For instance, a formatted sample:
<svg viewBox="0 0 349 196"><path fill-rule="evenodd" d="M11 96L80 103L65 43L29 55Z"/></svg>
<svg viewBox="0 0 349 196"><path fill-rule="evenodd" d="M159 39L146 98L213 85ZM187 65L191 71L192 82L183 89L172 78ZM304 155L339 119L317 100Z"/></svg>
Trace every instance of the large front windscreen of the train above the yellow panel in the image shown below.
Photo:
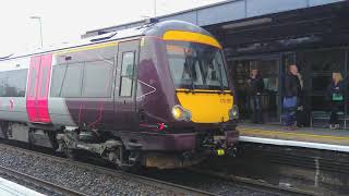
<svg viewBox="0 0 349 196"><path fill-rule="evenodd" d="M184 41L167 41L166 47L177 89L229 89L220 49Z"/></svg>

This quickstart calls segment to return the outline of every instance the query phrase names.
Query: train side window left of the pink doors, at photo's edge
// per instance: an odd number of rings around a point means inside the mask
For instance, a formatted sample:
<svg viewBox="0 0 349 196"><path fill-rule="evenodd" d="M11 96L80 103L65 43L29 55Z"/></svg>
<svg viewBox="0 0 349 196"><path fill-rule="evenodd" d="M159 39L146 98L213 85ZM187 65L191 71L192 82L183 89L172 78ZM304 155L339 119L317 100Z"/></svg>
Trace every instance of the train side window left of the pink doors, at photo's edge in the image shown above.
<svg viewBox="0 0 349 196"><path fill-rule="evenodd" d="M27 70L0 72L0 97L24 97Z"/></svg>

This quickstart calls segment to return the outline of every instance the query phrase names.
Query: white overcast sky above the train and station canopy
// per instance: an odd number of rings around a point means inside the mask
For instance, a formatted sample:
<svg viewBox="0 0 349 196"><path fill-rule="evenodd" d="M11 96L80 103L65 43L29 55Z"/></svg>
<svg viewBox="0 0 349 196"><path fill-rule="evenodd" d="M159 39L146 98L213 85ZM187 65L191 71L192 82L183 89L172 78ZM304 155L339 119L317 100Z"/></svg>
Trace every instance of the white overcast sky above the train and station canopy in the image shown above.
<svg viewBox="0 0 349 196"><path fill-rule="evenodd" d="M224 0L157 0L157 15ZM44 45L72 42L86 30L112 26L154 15L154 0L11 0L0 7L0 56Z"/></svg>

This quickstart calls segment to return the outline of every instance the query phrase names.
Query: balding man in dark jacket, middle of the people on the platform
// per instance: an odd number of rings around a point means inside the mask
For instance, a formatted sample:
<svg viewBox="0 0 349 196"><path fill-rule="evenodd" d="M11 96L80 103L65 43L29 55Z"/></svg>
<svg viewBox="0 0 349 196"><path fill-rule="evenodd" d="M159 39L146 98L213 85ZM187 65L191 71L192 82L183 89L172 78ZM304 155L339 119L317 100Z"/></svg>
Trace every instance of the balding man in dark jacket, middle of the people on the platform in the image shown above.
<svg viewBox="0 0 349 196"><path fill-rule="evenodd" d="M286 112L286 126L287 130L290 131L296 130L296 112L302 89L298 74L297 65L291 64L288 66L288 72L285 77L285 97L282 106Z"/></svg>

